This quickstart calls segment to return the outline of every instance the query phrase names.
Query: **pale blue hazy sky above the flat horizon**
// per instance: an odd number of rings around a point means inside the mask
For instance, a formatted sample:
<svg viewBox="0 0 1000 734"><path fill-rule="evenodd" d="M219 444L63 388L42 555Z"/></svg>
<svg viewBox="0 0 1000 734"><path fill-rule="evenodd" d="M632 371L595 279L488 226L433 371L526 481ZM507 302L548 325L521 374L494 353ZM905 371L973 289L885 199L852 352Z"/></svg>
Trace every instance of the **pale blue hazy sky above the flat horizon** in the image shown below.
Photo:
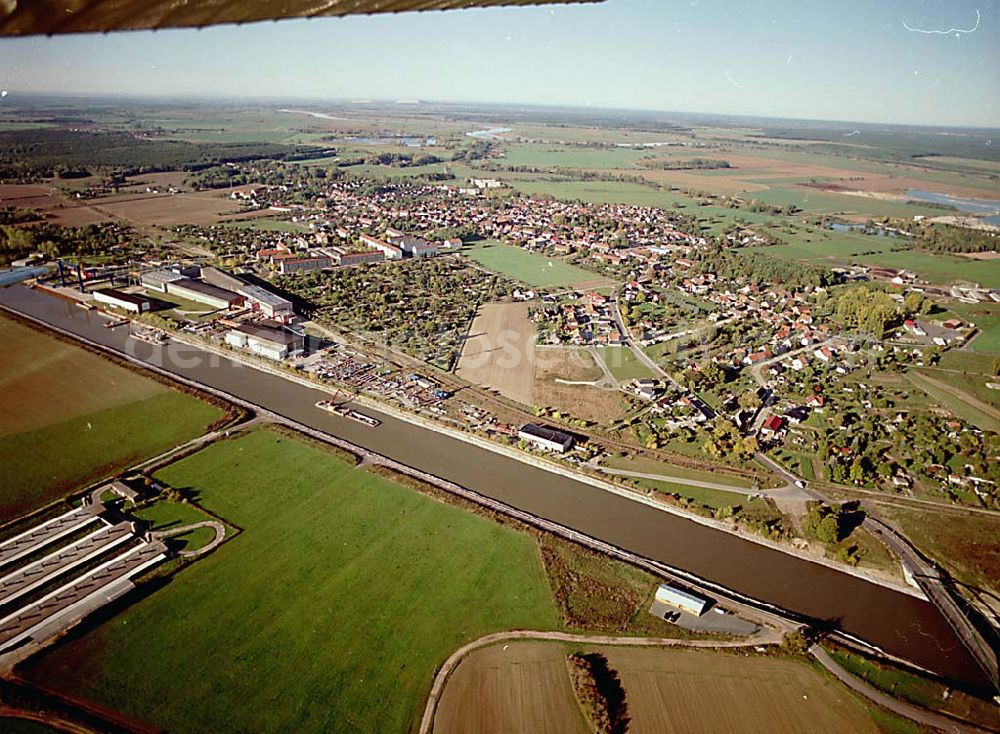
<svg viewBox="0 0 1000 734"><path fill-rule="evenodd" d="M0 89L1000 127L1000 0L608 0L0 39Z"/></svg>

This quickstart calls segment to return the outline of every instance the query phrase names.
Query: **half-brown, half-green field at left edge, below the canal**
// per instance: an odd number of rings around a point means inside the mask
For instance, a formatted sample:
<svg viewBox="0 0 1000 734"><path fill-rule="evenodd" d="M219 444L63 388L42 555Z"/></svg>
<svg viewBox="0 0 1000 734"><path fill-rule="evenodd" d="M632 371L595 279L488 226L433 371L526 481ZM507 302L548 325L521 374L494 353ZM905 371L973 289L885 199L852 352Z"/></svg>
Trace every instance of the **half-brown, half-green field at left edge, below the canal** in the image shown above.
<svg viewBox="0 0 1000 734"><path fill-rule="evenodd" d="M203 433L220 408L0 319L0 520Z"/></svg>

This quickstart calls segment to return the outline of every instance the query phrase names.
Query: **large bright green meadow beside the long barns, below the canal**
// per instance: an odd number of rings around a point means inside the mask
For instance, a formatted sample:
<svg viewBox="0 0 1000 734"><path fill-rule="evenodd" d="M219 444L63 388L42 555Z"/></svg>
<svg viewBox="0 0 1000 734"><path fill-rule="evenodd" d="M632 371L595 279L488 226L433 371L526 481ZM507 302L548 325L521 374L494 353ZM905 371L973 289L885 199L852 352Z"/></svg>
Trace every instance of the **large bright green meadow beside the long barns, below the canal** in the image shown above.
<svg viewBox="0 0 1000 734"><path fill-rule="evenodd" d="M406 732L456 647L560 626L532 537L298 440L157 476L242 532L30 679L173 732Z"/></svg>

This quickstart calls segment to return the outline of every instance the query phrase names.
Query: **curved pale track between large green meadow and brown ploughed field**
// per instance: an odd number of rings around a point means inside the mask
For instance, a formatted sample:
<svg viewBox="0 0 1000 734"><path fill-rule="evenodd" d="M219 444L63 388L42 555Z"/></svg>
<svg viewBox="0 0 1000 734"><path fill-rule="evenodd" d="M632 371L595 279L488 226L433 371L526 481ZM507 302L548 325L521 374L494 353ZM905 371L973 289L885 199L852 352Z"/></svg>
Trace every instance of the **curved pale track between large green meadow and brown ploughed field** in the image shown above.
<svg viewBox="0 0 1000 734"><path fill-rule="evenodd" d="M473 640L467 645L463 645L453 652L444 662L444 665L434 676L434 684L431 686L430 695L427 697L427 704L424 706L424 715L420 719L420 734L430 734L434 727L434 713L437 711L438 701L444 693L444 686L448 678L463 658L473 650L481 647L495 645L508 640L550 640L554 642L572 642L584 645L614 645L630 647L700 647L700 648L740 648L754 647L757 645L777 645L781 643L781 633L774 630L762 630L753 637L745 640L679 640L673 637L612 637L602 635L575 635L568 632L542 632L536 630L513 630L511 632L496 632L485 635L478 640Z"/></svg>

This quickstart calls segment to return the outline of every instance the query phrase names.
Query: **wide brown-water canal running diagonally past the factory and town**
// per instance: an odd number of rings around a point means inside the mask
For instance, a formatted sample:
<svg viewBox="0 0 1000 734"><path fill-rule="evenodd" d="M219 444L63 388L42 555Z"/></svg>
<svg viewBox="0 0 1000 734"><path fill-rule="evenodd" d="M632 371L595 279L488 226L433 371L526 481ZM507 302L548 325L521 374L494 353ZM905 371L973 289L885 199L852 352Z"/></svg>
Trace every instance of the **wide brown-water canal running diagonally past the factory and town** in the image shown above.
<svg viewBox="0 0 1000 734"><path fill-rule="evenodd" d="M926 601L388 415L378 416L379 428L367 428L317 410L316 401L328 397L319 390L194 347L164 349L129 339L125 328L105 328L103 317L40 291L3 288L0 303L526 512L828 621L949 678L985 685L976 663Z"/></svg>

